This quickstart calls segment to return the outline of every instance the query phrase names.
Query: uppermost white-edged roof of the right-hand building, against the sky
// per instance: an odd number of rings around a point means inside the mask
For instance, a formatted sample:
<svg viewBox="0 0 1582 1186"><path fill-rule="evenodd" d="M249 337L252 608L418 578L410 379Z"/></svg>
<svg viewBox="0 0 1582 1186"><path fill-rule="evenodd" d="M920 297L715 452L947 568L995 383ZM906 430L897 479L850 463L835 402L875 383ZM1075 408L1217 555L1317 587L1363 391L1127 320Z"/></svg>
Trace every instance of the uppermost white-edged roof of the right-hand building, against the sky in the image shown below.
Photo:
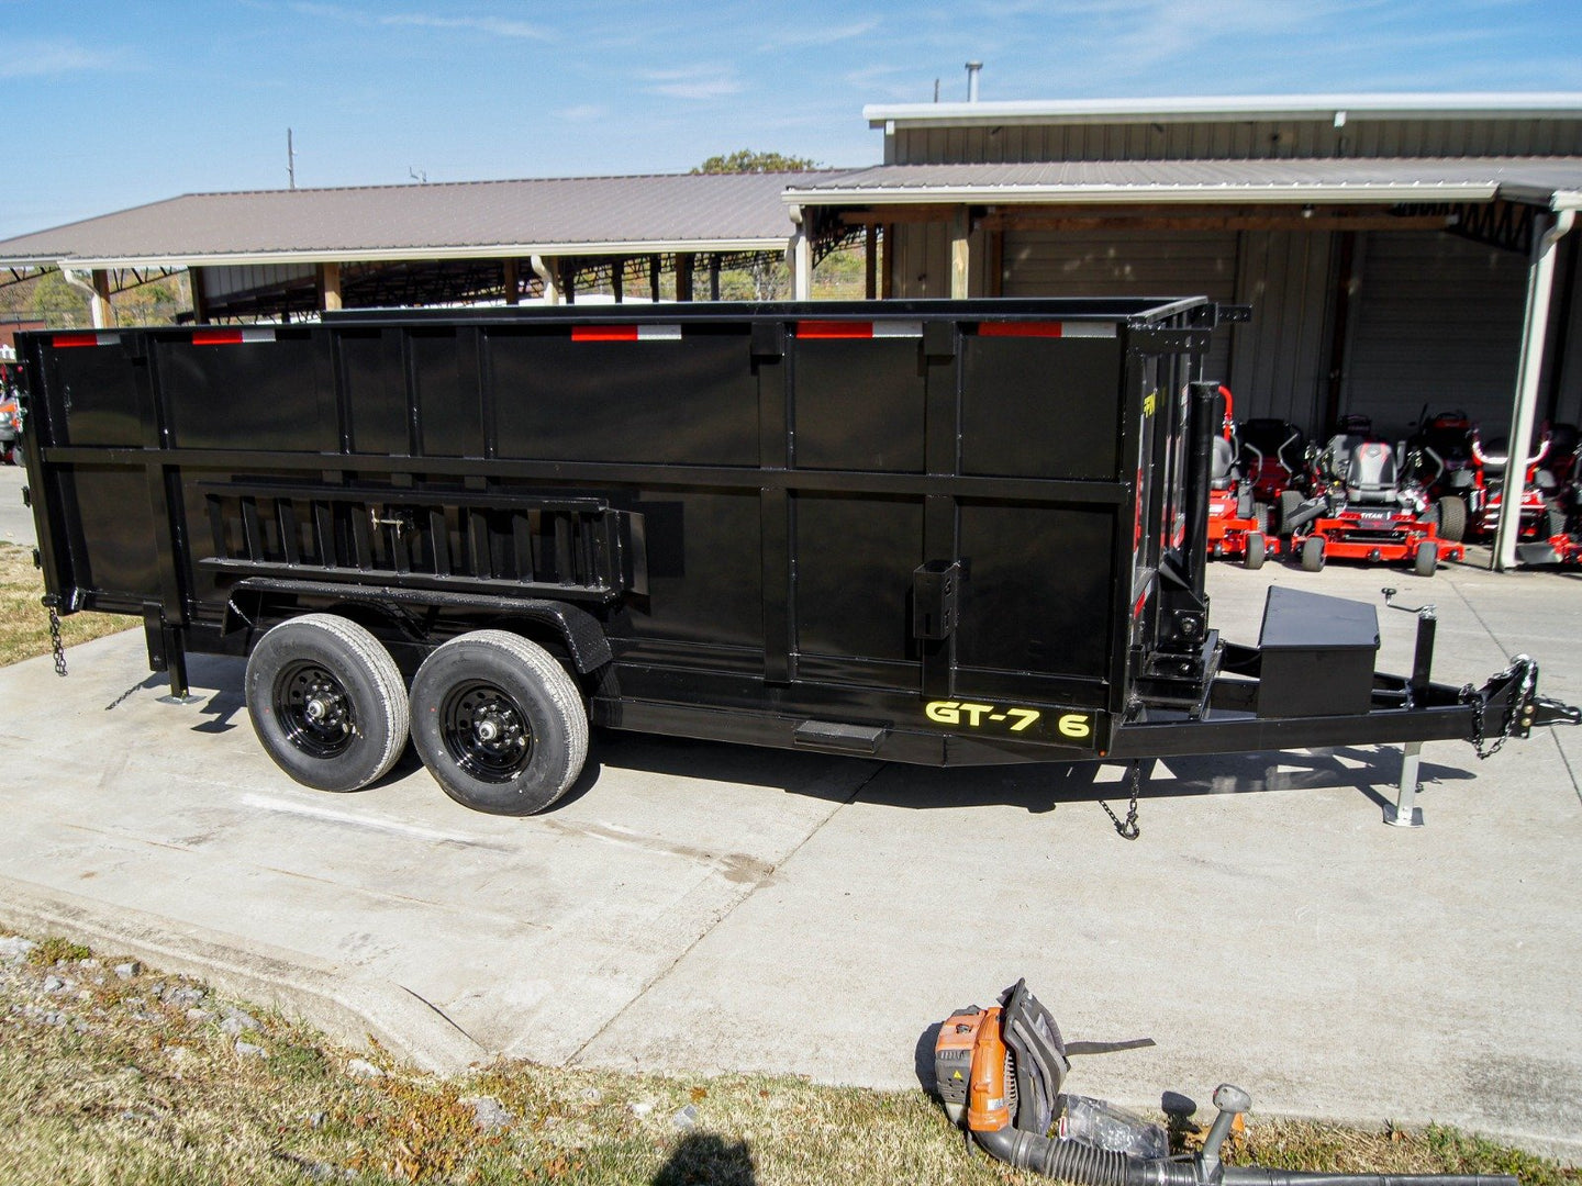
<svg viewBox="0 0 1582 1186"><path fill-rule="evenodd" d="M1459 95L1220 95L1017 103L870 104L880 127L959 128L975 123L1205 123L1220 120L1582 119L1582 92Z"/></svg>

